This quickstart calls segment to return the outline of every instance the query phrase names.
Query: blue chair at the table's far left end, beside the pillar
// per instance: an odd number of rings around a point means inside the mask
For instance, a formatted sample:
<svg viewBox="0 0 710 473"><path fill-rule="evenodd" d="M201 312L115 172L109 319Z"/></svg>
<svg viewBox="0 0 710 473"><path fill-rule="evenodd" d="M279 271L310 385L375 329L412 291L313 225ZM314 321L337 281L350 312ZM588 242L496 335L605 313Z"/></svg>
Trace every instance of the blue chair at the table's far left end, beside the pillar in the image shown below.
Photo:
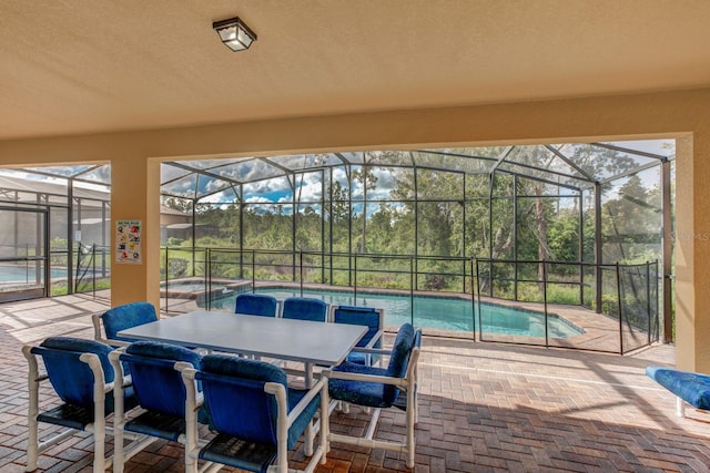
<svg viewBox="0 0 710 473"><path fill-rule="evenodd" d="M155 307L150 302L130 302L116 306L101 315L94 313L91 320L93 322L94 340L112 347L125 347L135 340L119 337L118 333L121 330L154 322L158 320L158 313L155 312ZM105 338L101 333L101 325L103 325Z"/></svg>

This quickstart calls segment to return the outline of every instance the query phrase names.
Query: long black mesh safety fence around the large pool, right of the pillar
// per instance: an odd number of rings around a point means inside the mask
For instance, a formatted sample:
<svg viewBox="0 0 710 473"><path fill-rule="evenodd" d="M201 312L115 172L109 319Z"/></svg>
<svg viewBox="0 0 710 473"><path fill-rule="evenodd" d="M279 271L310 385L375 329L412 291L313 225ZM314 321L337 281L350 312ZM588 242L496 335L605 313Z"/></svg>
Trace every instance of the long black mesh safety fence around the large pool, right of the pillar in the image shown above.
<svg viewBox="0 0 710 473"><path fill-rule="evenodd" d="M223 297L233 297L235 291L265 288L288 289L296 295L314 289L337 291L347 294L352 304L372 300L374 294L397 296L408 300L408 321L428 327L434 333L480 341L626 353L659 337L656 261L595 265L231 248L197 248L193 253L181 247L165 247L162 251L163 310L171 310L175 298L183 297L179 282L189 281L191 297L195 297L196 288L197 301L209 309L215 308L215 304L219 306ZM598 281L601 281L599 286ZM468 319L465 328L440 329L433 319L415 313L417 305L422 306L418 299L422 297L463 301L466 309L456 310L466 311L462 316ZM539 323L542 332L517 333L516 327L506 327L506 316L488 315L488 304L513 304L517 312L528 311L531 321L527 325ZM579 313L574 317L558 313L560 306L570 308L570 312L579 309ZM219 307L230 310L230 307ZM449 316L437 315L446 323ZM589 326L613 327L598 337L605 343L589 341L596 337L585 327L585 319ZM495 330L489 329L488 321ZM562 331L571 328L572 335L560 338L555 331L556 325Z"/></svg>

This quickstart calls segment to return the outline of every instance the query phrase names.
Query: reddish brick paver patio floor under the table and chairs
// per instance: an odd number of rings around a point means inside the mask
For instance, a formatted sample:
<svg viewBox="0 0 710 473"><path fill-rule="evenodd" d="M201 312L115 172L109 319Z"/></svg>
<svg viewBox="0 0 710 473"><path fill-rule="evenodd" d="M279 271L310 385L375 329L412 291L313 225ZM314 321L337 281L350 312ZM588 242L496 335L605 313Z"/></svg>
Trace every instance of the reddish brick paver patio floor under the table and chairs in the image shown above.
<svg viewBox="0 0 710 473"><path fill-rule="evenodd" d="M20 348L52 335L91 338L90 313L105 307L108 299L88 296L0 305L0 472L24 466ZM708 472L710 415L689 410L691 419L677 418L673 397L643 373L648 364L672 366L673 358L668 346L620 357L426 337L415 471ZM362 431L366 419L355 408L334 413L332 429ZM383 412L376 436L400 440L404 424L404 413ZM41 455L38 471L90 472L92 449L91 438L79 433ZM292 459L298 463L303 449ZM126 471L179 472L182 462L180 445L159 441ZM407 469L404 455L333 443L317 471Z"/></svg>

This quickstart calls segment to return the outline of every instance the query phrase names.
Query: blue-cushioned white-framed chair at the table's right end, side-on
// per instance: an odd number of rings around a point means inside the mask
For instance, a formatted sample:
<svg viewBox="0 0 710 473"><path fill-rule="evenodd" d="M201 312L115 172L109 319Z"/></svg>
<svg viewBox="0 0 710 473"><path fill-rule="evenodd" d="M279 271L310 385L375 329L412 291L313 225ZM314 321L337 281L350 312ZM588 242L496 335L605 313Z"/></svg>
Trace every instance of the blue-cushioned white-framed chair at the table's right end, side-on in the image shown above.
<svg viewBox="0 0 710 473"><path fill-rule="evenodd" d="M377 350L383 356L389 356L387 368L344 361L332 370L323 371L322 377L327 379L328 393L334 403L344 401L373 409L372 420L363 438L329 433L328 442L404 452L407 454L407 466L414 467L414 425L417 417L415 392L419 343L420 331L415 330L410 323L405 323L399 328L392 350ZM405 392L406 403L397 405L402 391ZM392 407L399 407L406 411L406 440L403 443L373 439L381 410Z"/></svg>

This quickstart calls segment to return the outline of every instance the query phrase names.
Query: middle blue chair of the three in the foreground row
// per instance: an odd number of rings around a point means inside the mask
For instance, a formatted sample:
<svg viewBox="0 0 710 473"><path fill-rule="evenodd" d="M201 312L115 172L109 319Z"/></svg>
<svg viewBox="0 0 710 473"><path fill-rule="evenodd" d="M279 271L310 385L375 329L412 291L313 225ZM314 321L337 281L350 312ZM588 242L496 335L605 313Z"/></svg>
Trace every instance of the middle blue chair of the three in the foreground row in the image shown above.
<svg viewBox="0 0 710 473"><path fill-rule="evenodd" d="M116 373L124 366L141 413L126 420L122 402L115 403L113 471L122 472L124 463L158 439L185 443L185 384L181 368L199 368L202 357L187 348L154 341L138 341L109 354ZM121 399L126 385L114 383L114 397ZM123 448L124 431L142 436L141 442Z"/></svg>

